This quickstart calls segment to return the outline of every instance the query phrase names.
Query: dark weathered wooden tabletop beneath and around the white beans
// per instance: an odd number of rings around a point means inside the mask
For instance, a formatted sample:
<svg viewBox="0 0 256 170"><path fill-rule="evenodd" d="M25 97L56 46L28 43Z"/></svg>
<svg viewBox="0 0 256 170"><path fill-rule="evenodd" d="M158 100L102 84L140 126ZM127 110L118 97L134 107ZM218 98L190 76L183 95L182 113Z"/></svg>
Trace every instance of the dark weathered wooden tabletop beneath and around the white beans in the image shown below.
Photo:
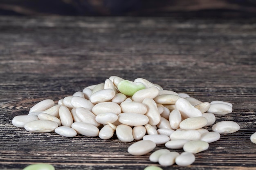
<svg viewBox="0 0 256 170"><path fill-rule="evenodd" d="M128 154L117 137L65 138L14 127L16 115L43 99L56 102L111 75L143 77L203 102L223 100L240 130L221 135L189 167L256 169L255 20L0 17L0 169L51 163L56 170L143 170L150 154ZM211 130L211 128L208 128ZM165 148L157 146L156 149ZM182 152L182 150L177 150Z"/></svg>

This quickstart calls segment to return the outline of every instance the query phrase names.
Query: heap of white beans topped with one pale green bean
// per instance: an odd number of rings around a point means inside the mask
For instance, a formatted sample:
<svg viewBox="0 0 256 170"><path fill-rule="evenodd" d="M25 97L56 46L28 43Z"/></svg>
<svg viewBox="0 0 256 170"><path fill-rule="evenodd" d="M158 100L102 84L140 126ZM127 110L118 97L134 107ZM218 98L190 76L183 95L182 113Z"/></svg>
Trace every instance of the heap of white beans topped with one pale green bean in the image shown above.
<svg viewBox="0 0 256 170"><path fill-rule="evenodd" d="M151 152L156 145L183 148L181 154L156 150L149 159L162 166L188 166L195 161L194 154L207 150L220 134L240 129L234 121L215 123L215 115L231 112L228 102L201 102L143 78L129 81L111 76L104 83L60 99L58 104L45 99L28 115L14 117L12 123L29 132L55 131L65 137L80 134L106 140L116 134L120 141L137 141L128 148L137 156ZM207 126L212 126L211 132L204 128Z"/></svg>

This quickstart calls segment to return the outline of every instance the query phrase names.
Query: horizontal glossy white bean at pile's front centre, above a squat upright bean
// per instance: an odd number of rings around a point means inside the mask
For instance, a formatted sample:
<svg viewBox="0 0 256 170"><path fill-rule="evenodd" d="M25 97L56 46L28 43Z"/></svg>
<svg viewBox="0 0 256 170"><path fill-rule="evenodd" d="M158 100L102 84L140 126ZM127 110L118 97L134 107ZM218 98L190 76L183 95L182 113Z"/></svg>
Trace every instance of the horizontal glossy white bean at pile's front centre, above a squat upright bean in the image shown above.
<svg viewBox="0 0 256 170"><path fill-rule="evenodd" d="M118 121L129 126L142 126L148 123L148 117L139 113L120 113Z"/></svg>

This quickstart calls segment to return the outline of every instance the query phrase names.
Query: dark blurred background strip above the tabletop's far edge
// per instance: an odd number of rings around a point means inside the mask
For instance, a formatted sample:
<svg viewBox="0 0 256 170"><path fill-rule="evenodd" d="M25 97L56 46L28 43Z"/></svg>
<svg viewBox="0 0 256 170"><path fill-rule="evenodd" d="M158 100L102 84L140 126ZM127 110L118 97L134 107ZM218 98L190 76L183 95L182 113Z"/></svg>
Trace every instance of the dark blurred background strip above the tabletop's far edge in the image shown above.
<svg viewBox="0 0 256 170"><path fill-rule="evenodd" d="M0 0L0 15L256 17L256 0Z"/></svg>

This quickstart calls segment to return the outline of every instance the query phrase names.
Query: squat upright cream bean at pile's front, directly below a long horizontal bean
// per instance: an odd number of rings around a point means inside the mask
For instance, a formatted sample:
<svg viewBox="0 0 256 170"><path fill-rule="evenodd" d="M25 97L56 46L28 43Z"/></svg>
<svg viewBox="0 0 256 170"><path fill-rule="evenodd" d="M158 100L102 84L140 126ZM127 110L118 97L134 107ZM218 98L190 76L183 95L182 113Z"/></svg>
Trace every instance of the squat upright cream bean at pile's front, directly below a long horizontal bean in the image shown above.
<svg viewBox="0 0 256 170"><path fill-rule="evenodd" d="M117 138L123 142L133 141L132 128L128 125L120 124L116 128Z"/></svg>

